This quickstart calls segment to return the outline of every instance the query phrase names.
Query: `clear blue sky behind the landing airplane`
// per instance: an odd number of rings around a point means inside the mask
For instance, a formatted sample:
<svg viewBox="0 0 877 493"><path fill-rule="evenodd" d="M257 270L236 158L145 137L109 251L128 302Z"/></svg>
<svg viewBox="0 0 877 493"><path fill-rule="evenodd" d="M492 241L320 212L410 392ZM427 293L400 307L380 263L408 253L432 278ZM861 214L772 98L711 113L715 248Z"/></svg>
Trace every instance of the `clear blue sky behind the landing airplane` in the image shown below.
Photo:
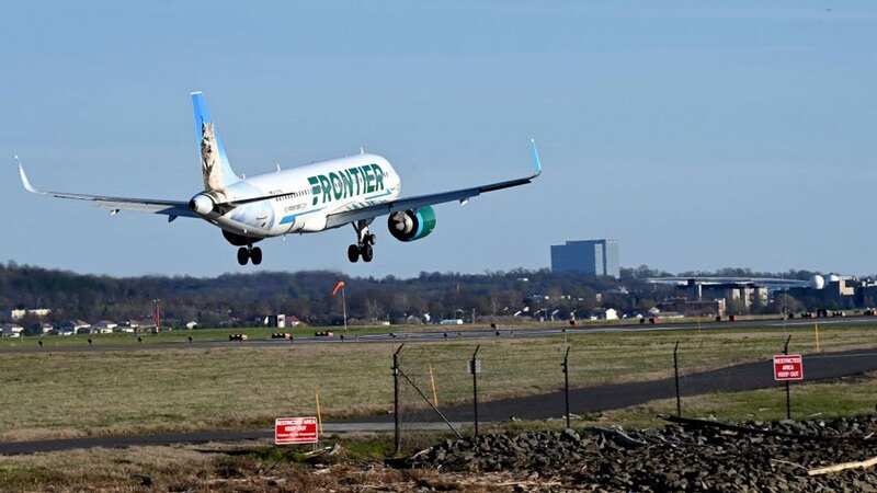
<svg viewBox="0 0 877 493"><path fill-rule="evenodd" d="M20 187L187 199L189 92L249 175L386 156L406 194L521 175L437 208L429 238L352 229L262 243L264 270L353 275L548 265L617 238L623 265L875 273L873 2L14 2L0 15L0 259L79 272L241 268L218 230L114 218ZM547 5L550 7L547 7Z"/></svg>

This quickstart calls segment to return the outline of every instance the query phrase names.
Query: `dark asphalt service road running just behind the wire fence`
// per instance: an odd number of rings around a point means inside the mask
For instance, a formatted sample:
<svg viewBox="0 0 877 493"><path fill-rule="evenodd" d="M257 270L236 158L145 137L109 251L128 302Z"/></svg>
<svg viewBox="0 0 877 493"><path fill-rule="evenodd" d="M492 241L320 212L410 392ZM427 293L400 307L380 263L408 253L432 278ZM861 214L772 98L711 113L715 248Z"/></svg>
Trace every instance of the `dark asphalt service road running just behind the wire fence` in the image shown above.
<svg viewBox="0 0 877 493"><path fill-rule="evenodd" d="M877 369L877 349L850 351L806 355L804 374L807 381L835 379L861 375ZM763 360L734 365L716 370L685 375L680 387L683 397L717 391L742 391L777 387L773 380L772 362ZM675 395L672 378L630 383L606 385L570 390L570 412L585 413L608 411L643 404L657 399ZM683 400L684 409L684 400ZM455 426L468 424L472 419L471 405L444 408L442 412ZM482 422L502 422L511 417L542 420L559 417L563 414L563 393L550 392L539 395L503 399L481 403L478 409ZM402 416L406 429L446 429L435 415L417 413L428 422L411 422L413 416ZM357 422L334 422L324 425L326 432L379 432L392 429L392 416L378 416ZM82 448L124 448L147 445L202 444L208 442L265 440L273 432L257 431L214 431L193 433L168 433L147 436L86 437L16 442L0 444L0 455L35 454L46 451L72 450Z"/></svg>

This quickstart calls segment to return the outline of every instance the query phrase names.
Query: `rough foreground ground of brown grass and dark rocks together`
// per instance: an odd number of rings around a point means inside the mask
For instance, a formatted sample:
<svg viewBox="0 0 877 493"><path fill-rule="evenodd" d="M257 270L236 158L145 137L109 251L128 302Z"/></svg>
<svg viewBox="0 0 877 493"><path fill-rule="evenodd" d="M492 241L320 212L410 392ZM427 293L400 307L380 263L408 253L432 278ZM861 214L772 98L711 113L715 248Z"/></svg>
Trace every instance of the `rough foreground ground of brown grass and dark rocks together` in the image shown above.
<svg viewBox="0 0 877 493"><path fill-rule="evenodd" d="M434 435L408 437L430 444ZM386 436L326 447L263 442L0 457L0 490L26 492L877 492L877 416L807 422L681 421L624 431L505 432L442 440L410 457ZM877 461L875 461L877 462Z"/></svg>

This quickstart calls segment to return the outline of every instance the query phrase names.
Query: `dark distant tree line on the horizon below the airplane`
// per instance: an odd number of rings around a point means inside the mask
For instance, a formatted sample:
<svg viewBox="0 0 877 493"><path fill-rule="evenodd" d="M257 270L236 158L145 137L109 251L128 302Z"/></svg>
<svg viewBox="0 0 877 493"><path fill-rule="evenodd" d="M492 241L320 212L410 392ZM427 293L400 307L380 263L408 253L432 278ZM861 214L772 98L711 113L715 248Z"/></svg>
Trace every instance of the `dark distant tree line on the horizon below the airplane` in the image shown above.
<svg viewBox="0 0 877 493"><path fill-rule="evenodd" d="M730 275L729 272L721 270L715 274ZM648 310L672 296L672 287L645 282L648 277L668 275L639 266L622 270L620 279L548 270L483 274L423 272L411 278L349 277L330 271L111 277L10 262L0 264L0 308L4 310L4 320L11 309L50 308L52 322L75 319L119 322L151 319L153 300L160 300L162 317L179 324L197 321L202 326L251 325L276 313L295 316L307 323L332 324L341 322L342 309L340 296L333 297L331 291L335 283L343 280L348 313L354 322L398 322L422 319L425 313L433 320L468 319L472 311L476 317L512 317L547 309L586 312L600 307L627 312ZM805 274L765 277L789 275Z"/></svg>

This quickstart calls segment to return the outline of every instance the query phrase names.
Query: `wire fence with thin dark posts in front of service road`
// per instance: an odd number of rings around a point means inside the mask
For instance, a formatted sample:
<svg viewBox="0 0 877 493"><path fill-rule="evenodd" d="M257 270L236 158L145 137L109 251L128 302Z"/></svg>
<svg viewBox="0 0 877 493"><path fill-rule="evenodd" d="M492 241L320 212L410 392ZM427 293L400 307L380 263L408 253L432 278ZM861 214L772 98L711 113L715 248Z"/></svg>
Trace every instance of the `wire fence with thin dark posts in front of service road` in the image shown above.
<svg viewBox="0 0 877 493"><path fill-rule="evenodd" d="M817 336L799 334L791 351L807 353L811 379L831 379L877 369L868 336L832 335L829 347ZM824 336L823 336L824 339ZM533 337L498 331L492 340L446 344L408 344L396 354L398 398L395 402L399 445L424 427L451 434L477 433L477 424L509 421L594 421L613 410L640 409L642 414L696 412L721 417L726 410L709 395L765 389L752 398L752 416L770 402L785 414L783 383L774 381L771 357L783 352L786 333L661 333L641 336L572 334ZM857 353L823 354L857 347ZM794 383L793 399L795 386ZM705 398L706 395L706 398ZM779 402L776 402L779 401ZM743 404L745 405L745 404ZM727 411L727 412L726 412ZM770 413L768 413L770 414ZM737 414L734 414L737 415ZM573 423L573 425L574 425Z"/></svg>

